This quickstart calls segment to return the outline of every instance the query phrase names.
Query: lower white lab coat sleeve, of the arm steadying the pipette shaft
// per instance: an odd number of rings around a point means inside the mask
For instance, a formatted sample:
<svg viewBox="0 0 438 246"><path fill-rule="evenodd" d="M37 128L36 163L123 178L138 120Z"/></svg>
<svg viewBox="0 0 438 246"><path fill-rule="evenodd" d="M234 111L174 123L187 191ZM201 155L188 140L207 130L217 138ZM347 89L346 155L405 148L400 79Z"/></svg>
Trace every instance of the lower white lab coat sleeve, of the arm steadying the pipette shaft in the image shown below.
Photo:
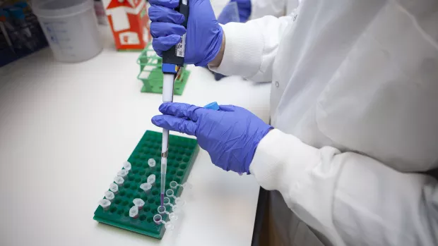
<svg viewBox="0 0 438 246"><path fill-rule="evenodd" d="M438 184L271 130L249 167L266 190L334 245L438 245Z"/></svg>

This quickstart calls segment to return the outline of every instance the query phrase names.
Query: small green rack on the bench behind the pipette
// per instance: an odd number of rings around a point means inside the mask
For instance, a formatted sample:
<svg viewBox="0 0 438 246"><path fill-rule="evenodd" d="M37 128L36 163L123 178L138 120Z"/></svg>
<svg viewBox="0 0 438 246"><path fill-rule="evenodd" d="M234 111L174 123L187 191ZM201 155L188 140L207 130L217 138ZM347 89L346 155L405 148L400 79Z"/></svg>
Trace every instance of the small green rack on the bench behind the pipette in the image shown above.
<svg viewBox="0 0 438 246"><path fill-rule="evenodd" d="M162 94L162 59L150 47L150 44L144 49L137 59L140 65L140 73L138 73L138 80L143 82L141 92L151 92ZM179 74L174 83L173 94L181 95L189 79L190 71L182 68L182 73Z"/></svg>

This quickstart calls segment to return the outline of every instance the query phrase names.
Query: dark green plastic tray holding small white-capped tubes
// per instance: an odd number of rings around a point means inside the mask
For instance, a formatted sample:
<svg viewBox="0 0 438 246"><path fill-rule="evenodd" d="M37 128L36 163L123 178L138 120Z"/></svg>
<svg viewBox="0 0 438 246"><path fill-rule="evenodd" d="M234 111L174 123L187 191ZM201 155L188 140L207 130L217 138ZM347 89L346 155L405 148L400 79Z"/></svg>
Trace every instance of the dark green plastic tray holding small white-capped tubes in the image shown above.
<svg viewBox="0 0 438 246"><path fill-rule="evenodd" d="M127 180L123 185L119 185L119 192L115 195L107 211L104 211L100 206L97 207L93 219L153 238L162 238L165 233L164 225L157 225L153 222L153 216L158 214L157 209L160 206L161 140L161 133L146 131L134 152L129 156L128 161L131 163L132 168L129 171ZM186 182L198 151L199 146L196 140L170 135L166 190L170 188L169 183L172 180L177 181L177 183ZM150 158L155 159L154 170L150 170L148 166L148 159ZM146 179L152 173L156 177L155 185L153 185L150 193L146 195L146 192L140 189L140 185L146 183ZM181 192L182 187L179 187L175 195L179 197ZM129 209L134 206L132 203L134 198L141 198L146 202L143 209L139 211L137 219L129 217ZM173 199L171 199L171 202L174 202ZM167 207L167 211L171 211L170 207ZM162 219L167 221L167 216L162 216Z"/></svg>

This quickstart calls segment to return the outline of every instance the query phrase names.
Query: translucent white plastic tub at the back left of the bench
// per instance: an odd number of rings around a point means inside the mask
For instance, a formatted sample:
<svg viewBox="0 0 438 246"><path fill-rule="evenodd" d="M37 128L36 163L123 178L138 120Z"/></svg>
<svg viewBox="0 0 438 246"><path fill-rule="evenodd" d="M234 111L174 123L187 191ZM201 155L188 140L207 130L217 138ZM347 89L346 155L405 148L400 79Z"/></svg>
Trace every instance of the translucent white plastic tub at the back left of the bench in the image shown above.
<svg viewBox="0 0 438 246"><path fill-rule="evenodd" d="M58 61L85 61L102 51L93 0L40 0L32 9Z"/></svg>

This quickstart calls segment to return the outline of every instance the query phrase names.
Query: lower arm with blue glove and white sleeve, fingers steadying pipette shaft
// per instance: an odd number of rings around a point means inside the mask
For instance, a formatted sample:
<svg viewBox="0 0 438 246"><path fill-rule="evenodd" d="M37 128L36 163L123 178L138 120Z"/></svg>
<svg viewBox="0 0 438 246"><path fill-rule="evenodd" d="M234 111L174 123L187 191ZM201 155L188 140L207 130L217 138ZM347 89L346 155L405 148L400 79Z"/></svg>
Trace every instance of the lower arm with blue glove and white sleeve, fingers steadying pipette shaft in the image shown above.
<svg viewBox="0 0 438 246"><path fill-rule="evenodd" d="M152 122L195 135L211 161L279 190L334 245L438 245L438 184L333 147L304 144L237 106L165 103Z"/></svg>

